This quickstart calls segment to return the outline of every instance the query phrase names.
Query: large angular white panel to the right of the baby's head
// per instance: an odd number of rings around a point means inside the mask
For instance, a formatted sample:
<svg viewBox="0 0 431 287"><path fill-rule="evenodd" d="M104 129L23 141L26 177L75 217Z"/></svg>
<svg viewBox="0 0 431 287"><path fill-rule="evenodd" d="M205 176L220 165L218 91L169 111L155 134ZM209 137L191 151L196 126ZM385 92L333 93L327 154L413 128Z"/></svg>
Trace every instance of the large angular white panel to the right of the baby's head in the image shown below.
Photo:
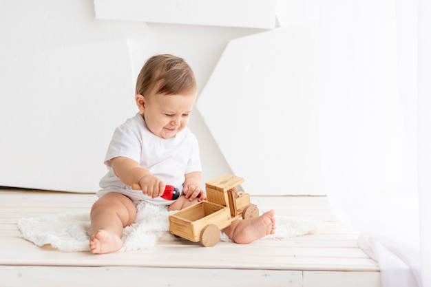
<svg viewBox="0 0 431 287"><path fill-rule="evenodd" d="M317 142L317 22L229 43L197 107L252 194L323 194Z"/></svg>

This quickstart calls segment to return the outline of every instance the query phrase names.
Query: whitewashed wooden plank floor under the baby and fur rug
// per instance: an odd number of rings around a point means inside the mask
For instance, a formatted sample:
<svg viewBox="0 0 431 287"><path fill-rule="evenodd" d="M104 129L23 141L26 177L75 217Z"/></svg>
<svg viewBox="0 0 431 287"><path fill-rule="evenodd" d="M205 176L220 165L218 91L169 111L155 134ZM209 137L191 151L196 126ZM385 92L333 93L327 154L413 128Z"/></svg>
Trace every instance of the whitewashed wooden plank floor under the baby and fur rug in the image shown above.
<svg viewBox="0 0 431 287"><path fill-rule="evenodd" d="M338 222L326 197L257 197L262 211L324 222L317 235L211 248L178 240L145 251L92 255L40 248L23 240L21 217L89 211L94 194L0 189L0 286L378 287L378 264Z"/></svg>

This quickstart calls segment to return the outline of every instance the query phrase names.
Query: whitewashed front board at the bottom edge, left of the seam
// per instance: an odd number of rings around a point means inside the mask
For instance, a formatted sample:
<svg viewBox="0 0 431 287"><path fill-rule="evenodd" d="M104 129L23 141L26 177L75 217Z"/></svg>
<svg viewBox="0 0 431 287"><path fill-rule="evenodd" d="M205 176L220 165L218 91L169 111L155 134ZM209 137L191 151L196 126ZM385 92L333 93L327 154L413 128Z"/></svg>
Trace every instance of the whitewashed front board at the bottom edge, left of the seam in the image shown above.
<svg viewBox="0 0 431 287"><path fill-rule="evenodd" d="M51 267L51 266L7 266L0 269L4 280L1 286L10 287L76 287L83 286L127 286L127 287L166 287L166 286L302 286L302 272L280 270L237 270L182 268L177 272L167 268L140 267ZM46 274L56 276L46 276ZM4 277L4 275L8 275ZM73 274L74 280L63 280ZM280 284L282 282L282 284ZM246 285L243 285L246 284Z"/></svg>

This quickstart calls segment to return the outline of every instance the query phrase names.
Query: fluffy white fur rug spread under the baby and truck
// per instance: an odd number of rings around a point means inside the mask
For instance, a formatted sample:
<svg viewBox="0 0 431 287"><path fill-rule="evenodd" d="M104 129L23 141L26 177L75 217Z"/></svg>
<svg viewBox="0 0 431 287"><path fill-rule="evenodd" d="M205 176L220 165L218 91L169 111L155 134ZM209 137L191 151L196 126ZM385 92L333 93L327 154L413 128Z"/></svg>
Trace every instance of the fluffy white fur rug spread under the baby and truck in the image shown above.
<svg viewBox="0 0 431 287"><path fill-rule="evenodd" d="M131 226L123 230L124 246L120 251L154 247L158 241L177 240L169 233L169 211L166 206L148 202L138 204L138 214ZM275 215L275 234L265 239L283 239L319 233L322 222ZM37 246L50 244L60 251L90 251L90 213L57 213L41 217L24 217L18 222L23 237ZM220 240L230 241L220 233Z"/></svg>

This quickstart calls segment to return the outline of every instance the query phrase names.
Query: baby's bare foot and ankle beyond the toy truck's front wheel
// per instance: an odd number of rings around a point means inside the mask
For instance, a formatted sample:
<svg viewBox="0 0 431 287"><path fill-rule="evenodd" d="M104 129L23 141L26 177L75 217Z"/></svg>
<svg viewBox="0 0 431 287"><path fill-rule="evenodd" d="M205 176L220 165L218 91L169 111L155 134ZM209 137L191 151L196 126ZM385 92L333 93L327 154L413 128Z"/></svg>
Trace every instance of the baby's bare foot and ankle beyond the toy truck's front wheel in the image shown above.
<svg viewBox="0 0 431 287"><path fill-rule="evenodd" d="M266 211L259 217L235 220L223 232L236 243L246 244L275 233L275 211Z"/></svg>

